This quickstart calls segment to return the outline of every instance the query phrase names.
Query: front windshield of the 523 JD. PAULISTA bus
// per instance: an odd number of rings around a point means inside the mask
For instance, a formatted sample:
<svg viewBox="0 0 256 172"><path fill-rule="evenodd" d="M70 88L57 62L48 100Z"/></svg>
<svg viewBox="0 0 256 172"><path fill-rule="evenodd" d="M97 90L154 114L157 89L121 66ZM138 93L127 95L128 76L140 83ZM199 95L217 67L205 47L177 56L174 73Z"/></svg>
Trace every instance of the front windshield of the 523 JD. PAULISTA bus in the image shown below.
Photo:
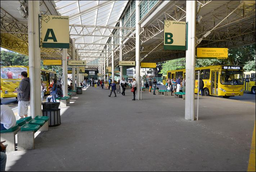
<svg viewBox="0 0 256 172"><path fill-rule="evenodd" d="M243 85L242 71L221 71L220 83L223 85Z"/></svg>

